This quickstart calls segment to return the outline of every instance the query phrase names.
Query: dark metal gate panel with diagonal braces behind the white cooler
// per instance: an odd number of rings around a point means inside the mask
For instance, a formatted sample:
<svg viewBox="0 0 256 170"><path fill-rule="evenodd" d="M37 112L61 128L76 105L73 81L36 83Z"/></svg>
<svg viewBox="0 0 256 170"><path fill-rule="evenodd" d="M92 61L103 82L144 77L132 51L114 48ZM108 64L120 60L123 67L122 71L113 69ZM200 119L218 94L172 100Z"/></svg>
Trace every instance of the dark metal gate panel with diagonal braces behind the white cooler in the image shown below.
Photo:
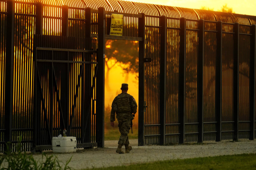
<svg viewBox="0 0 256 170"><path fill-rule="evenodd" d="M97 146L94 42L64 36L34 37L33 150L52 148L52 137L67 130L77 148Z"/></svg>

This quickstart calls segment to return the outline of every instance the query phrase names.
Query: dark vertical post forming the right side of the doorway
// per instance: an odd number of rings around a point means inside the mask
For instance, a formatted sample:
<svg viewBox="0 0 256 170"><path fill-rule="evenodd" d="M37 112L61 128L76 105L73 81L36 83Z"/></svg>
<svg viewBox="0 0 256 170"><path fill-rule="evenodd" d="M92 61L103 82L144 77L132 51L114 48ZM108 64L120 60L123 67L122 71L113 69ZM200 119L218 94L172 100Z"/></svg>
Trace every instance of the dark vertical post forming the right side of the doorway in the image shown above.
<svg viewBox="0 0 256 170"><path fill-rule="evenodd" d="M138 18L138 36L142 37L139 42L139 101L138 101L138 146L144 145L144 101L145 101L145 35L146 35L146 15L141 13Z"/></svg>

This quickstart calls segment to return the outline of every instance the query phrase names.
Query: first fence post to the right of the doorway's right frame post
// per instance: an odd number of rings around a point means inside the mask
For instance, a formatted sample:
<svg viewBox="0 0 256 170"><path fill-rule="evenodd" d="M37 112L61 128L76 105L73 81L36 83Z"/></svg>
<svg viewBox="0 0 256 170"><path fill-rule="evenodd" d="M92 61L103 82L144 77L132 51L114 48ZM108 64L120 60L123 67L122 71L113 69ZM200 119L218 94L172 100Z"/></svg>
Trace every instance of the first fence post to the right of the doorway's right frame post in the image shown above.
<svg viewBox="0 0 256 170"><path fill-rule="evenodd" d="M159 18L160 26L160 82L159 82L159 144L165 145L165 119L166 119L166 16Z"/></svg>

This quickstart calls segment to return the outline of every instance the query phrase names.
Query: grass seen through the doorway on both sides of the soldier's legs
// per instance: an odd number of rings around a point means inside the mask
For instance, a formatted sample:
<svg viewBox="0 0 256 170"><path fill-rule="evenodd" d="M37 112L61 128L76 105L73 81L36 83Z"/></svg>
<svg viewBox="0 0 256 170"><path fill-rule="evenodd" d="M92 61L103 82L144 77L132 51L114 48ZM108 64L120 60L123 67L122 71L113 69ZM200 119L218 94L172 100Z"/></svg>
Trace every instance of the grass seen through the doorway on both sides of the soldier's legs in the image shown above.
<svg viewBox="0 0 256 170"><path fill-rule="evenodd" d="M133 132L133 133L132 133ZM118 127L105 129L105 140L119 140L120 132ZM129 139L138 139L138 129L132 128L128 134Z"/></svg>

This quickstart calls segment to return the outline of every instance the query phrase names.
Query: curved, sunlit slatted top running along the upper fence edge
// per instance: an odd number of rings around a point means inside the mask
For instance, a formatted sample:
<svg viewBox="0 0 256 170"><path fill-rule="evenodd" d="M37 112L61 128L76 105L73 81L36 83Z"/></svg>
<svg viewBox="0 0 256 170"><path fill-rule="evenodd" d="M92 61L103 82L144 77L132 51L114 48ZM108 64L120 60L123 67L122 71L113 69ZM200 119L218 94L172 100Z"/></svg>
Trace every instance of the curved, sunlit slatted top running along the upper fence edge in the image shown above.
<svg viewBox="0 0 256 170"><path fill-rule="evenodd" d="M145 13L146 15L187 19L203 19L209 21L223 21L228 23L256 24L256 16L235 13L208 11L201 9L189 9L165 5L147 4L122 0L18 0L19 2L41 2L47 5L67 5L69 7L98 9L104 7L106 11L118 11L123 13Z"/></svg>

